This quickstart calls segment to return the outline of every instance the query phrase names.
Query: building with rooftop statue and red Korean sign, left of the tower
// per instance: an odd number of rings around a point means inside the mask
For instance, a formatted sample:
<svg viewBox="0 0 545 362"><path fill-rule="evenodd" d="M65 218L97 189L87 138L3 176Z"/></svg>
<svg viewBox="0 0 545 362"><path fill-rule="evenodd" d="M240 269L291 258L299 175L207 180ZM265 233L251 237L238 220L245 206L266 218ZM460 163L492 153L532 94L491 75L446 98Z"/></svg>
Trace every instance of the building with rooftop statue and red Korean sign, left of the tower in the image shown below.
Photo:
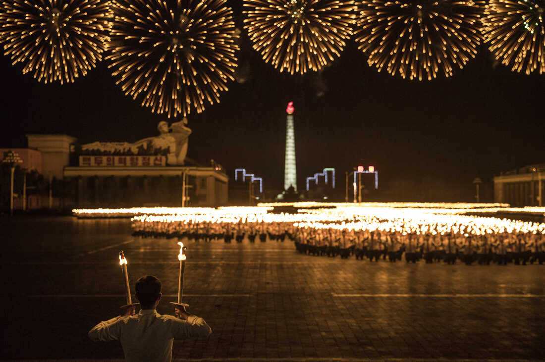
<svg viewBox="0 0 545 362"><path fill-rule="evenodd" d="M187 164L187 120L161 121L159 136L135 143L93 142L76 150L77 164L64 167L65 188L77 207L227 204L228 177L221 165Z"/></svg>

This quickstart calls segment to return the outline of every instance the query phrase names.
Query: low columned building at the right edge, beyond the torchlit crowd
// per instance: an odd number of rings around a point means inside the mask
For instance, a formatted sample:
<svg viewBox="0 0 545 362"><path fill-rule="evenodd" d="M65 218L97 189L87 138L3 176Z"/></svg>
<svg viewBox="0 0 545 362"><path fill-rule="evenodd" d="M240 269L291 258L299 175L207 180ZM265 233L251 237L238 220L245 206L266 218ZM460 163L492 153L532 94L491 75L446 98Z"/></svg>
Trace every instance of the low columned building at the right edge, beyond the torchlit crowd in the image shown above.
<svg viewBox="0 0 545 362"><path fill-rule="evenodd" d="M527 165L494 177L494 202L511 206L543 206L545 163Z"/></svg>

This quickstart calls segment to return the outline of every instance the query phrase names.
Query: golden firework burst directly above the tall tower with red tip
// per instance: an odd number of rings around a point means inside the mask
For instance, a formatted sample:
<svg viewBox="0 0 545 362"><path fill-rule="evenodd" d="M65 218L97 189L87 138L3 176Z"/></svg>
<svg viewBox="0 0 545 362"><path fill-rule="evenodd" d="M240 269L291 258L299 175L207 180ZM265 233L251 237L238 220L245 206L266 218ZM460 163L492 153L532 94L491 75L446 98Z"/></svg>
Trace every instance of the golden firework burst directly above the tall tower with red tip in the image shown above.
<svg viewBox="0 0 545 362"><path fill-rule="evenodd" d="M353 0L244 0L253 48L281 72L318 71L340 56L355 24Z"/></svg>

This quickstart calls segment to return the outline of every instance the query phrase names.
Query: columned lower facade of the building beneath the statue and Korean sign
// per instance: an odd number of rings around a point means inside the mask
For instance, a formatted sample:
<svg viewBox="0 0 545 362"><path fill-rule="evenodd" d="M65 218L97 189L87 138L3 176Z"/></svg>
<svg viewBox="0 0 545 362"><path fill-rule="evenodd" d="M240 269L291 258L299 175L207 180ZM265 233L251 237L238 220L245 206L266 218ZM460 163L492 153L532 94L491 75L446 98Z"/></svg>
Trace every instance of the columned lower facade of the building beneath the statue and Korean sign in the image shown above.
<svg viewBox="0 0 545 362"><path fill-rule="evenodd" d="M228 177L215 167L64 168L66 190L74 207L180 206L183 177L186 206L227 204Z"/></svg>

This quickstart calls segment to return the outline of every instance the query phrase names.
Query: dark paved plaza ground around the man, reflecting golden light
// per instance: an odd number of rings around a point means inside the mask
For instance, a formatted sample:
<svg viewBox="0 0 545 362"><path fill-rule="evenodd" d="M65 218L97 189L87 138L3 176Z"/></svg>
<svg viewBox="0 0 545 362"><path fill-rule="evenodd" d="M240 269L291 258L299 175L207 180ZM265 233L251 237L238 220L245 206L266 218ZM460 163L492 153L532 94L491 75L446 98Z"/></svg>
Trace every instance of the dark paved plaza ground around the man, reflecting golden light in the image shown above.
<svg viewBox="0 0 545 362"><path fill-rule="evenodd" d="M126 219L1 218L2 359L122 359L91 342L143 275L172 314L178 240ZM545 266L426 265L301 255L292 242L186 241L184 302L213 329L174 359L544 359Z"/></svg>

